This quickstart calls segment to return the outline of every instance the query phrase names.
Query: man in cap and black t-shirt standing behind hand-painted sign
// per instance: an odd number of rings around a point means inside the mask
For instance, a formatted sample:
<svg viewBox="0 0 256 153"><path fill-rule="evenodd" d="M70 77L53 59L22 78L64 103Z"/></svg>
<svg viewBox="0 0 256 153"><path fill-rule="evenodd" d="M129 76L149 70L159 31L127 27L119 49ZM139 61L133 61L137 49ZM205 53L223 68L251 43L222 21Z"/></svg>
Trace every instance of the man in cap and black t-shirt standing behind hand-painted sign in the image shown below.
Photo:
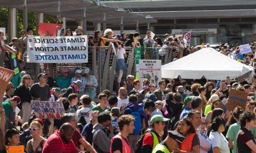
<svg viewBox="0 0 256 153"><path fill-rule="evenodd" d="M49 101L51 97L50 87L46 84L46 73L40 73L37 75L39 83L35 83L30 88L30 94L33 100Z"/></svg>

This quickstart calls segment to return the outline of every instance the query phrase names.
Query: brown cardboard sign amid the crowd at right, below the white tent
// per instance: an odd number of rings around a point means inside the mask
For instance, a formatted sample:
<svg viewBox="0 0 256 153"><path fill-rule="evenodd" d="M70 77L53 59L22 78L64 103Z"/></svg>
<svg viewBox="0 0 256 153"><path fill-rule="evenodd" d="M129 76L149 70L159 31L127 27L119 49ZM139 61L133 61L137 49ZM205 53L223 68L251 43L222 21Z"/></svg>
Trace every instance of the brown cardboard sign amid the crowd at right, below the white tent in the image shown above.
<svg viewBox="0 0 256 153"><path fill-rule="evenodd" d="M232 111L235 107L242 107L245 109L247 93L236 89L229 90L228 103L226 105L227 110Z"/></svg>

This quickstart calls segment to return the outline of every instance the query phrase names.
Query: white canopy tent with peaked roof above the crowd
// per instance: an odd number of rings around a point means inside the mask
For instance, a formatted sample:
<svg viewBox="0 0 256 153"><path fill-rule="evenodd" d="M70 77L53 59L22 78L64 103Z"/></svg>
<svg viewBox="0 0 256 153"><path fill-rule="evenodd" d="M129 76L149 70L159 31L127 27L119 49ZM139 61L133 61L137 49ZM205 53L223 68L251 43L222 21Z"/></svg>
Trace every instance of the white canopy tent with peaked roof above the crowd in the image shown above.
<svg viewBox="0 0 256 153"><path fill-rule="evenodd" d="M213 48L203 48L197 52L162 66L162 78L222 80L240 77L253 68L239 63Z"/></svg>

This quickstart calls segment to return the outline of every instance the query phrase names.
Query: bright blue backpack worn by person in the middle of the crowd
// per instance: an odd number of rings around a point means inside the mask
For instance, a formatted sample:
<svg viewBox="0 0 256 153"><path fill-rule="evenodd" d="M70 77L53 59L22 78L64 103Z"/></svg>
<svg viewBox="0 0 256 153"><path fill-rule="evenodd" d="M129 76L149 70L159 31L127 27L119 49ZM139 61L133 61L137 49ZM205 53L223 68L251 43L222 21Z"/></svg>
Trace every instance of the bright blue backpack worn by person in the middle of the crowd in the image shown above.
<svg viewBox="0 0 256 153"><path fill-rule="evenodd" d="M129 110L131 112L131 115L133 115L135 118L135 121L134 121L135 129L133 131L133 135L137 135L141 131L142 122L140 117L140 111L142 111L143 109L142 107L140 107L137 111L134 111L132 108L127 108L127 110Z"/></svg>

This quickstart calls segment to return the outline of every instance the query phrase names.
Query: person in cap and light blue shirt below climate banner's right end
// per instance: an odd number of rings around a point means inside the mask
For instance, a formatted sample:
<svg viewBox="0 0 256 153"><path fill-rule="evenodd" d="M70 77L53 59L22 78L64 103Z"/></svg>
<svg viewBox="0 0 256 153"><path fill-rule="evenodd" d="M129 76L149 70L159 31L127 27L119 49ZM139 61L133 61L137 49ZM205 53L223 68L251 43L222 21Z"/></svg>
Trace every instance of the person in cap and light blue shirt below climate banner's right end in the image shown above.
<svg viewBox="0 0 256 153"><path fill-rule="evenodd" d="M84 73L86 74L84 77L84 79L86 79L86 88L84 89L84 94L89 95L94 101L96 97L96 88L98 87L97 79L94 75L90 74L90 68L88 67L84 68Z"/></svg>

